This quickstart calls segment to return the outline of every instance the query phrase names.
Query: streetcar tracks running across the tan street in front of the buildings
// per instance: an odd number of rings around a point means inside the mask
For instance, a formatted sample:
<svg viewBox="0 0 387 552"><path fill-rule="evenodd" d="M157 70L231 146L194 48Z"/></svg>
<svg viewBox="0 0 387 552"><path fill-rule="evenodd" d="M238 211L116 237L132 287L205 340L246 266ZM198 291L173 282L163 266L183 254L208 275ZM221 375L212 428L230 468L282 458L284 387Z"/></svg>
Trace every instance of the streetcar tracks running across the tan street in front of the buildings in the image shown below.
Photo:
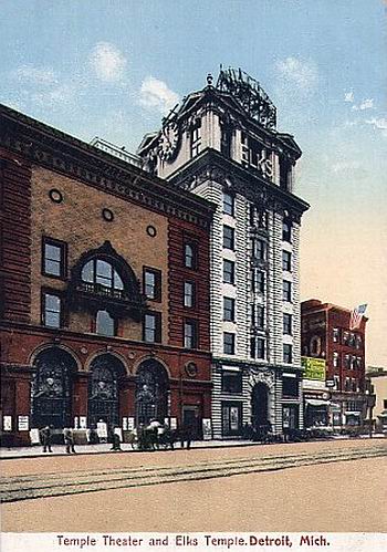
<svg viewBox="0 0 387 552"><path fill-rule="evenodd" d="M178 467L139 467L124 470L105 470L103 472L94 471L92 475L87 473L87 480L81 481L76 480L76 477L85 477L86 473L84 471L82 473L50 473L49 478L46 477L48 475L42 473L38 475L35 479L33 479L33 476L27 476L29 478L28 480L21 477L8 478L1 486L2 490L0 496L2 502L15 502L20 500L81 494L122 488L129 489L163 483L199 481L240 475L251 475L262 471L276 471L316 464L333 464L383 456L387 456L387 449L385 447L346 449L345 451L334 452L325 451L324 456L322 456L322 454L299 454L284 457L253 457L233 459L229 461L218 460L212 462L198 462L196 465ZM114 471L113 476L116 477L102 480L95 479L106 475L112 476L112 471ZM3 479L6 478L2 478L2 480ZM59 485L53 485L55 480L59 480ZM34 481L35 486L24 487L22 483L28 481Z"/></svg>

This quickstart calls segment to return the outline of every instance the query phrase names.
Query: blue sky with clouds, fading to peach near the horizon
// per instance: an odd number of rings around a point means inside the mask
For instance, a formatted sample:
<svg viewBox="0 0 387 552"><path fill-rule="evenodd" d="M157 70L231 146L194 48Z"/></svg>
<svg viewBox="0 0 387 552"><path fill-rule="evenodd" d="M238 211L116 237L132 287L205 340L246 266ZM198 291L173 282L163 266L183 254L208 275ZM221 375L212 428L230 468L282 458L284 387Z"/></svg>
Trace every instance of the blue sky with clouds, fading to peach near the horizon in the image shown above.
<svg viewBox="0 0 387 552"><path fill-rule="evenodd" d="M1 102L135 149L219 64L257 77L304 154L302 294L368 302L387 365L383 0L2 0Z"/></svg>

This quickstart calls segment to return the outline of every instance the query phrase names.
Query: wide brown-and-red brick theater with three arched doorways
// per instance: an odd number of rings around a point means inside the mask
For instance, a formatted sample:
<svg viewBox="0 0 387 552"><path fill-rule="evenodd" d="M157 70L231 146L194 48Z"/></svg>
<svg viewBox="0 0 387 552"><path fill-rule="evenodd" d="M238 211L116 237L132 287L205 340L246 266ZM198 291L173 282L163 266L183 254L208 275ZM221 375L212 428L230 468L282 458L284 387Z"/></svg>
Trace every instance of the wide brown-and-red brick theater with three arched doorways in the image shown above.
<svg viewBox="0 0 387 552"><path fill-rule="evenodd" d="M157 417L200 437L213 207L13 110L0 117L3 434Z"/></svg>

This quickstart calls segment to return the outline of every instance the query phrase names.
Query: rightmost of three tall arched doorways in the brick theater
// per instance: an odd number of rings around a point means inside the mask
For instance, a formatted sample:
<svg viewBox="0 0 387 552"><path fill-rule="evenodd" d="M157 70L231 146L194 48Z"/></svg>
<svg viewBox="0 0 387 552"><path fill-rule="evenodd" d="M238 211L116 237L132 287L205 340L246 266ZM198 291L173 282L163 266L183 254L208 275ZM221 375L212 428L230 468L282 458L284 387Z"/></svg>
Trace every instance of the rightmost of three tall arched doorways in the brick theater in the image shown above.
<svg viewBox="0 0 387 552"><path fill-rule="evenodd" d="M168 374L157 361L144 361L136 378L136 425L155 418L164 423L168 415Z"/></svg>

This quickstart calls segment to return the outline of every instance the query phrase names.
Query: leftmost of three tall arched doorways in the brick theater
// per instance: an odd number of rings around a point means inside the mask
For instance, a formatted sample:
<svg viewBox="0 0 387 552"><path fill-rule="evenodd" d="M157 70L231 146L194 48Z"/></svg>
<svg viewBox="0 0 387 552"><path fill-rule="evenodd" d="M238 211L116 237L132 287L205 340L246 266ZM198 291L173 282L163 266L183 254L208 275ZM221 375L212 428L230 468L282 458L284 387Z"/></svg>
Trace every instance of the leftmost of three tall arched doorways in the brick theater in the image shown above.
<svg viewBox="0 0 387 552"><path fill-rule="evenodd" d="M76 373L73 356L59 347L39 353L33 362L35 374L31 386L32 427L72 426L72 387Z"/></svg>

